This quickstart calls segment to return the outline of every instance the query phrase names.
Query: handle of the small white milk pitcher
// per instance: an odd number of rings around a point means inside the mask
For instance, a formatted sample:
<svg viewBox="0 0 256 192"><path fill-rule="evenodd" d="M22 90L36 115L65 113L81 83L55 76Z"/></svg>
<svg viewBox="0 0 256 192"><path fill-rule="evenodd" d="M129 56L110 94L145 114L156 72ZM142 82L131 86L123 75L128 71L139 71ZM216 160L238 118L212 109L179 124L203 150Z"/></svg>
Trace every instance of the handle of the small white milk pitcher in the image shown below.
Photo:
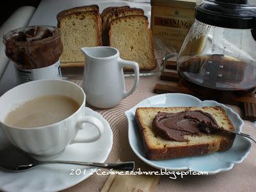
<svg viewBox="0 0 256 192"><path fill-rule="evenodd" d="M140 68L138 63L134 62L134 61L127 61L127 60L122 60L121 58L118 59L118 63L120 65L120 67L132 67L134 68L134 73L135 73L135 81L134 84L132 86L132 89L129 92L125 92L123 93L123 99L125 97L128 97L129 95L131 95L131 93L133 93L136 90L136 87L138 86L139 83L139 78L140 78Z"/></svg>

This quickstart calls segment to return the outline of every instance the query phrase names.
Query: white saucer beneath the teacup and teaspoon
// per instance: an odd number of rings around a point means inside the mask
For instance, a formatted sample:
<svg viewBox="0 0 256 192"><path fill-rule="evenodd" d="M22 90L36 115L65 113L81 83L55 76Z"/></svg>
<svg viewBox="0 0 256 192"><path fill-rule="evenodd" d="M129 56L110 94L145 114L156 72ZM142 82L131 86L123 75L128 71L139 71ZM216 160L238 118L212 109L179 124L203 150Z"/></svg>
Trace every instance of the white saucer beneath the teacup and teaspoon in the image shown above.
<svg viewBox="0 0 256 192"><path fill-rule="evenodd" d="M102 138L93 143L68 145L60 156L55 157L54 159L100 163L106 161L113 143L111 128L108 122L99 113L90 108L85 108L85 113L86 115L92 115L99 118L102 122L104 125L104 134L102 134ZM92 128L93 127L90 127L90 124L87 124L86 129L79 131L79 133L80 135L88 135L88 132L90 132L90 134L97 134L95 129ZM89 136L90 135L88 135L88 137ZM11 147L11 145L6 138L4 138L3 132L1 132L0 129L0 149L6 147ZM52 159L52 157L49 157L48 159ZM96 170L96 168L90 166L76 166L69 164L44 164L26 172L19 173L4 172L3 170L0 170L0 191L60 191L74 186L90 177ZM72 173L74 173L74 175L72 175Z"/></svg>

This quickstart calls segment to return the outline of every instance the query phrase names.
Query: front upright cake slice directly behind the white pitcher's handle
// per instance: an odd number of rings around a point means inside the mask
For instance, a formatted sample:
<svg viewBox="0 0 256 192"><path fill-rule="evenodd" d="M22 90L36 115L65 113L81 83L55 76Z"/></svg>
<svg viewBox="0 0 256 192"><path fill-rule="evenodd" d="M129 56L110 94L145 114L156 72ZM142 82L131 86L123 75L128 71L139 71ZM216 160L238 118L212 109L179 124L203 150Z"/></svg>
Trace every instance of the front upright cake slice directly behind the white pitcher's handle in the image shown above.
<svg viewBox="0 0 256 192"><path fill-rule="evenodd" d="M120 51L123 60L136 61L140 70L156 68L152 32L144 15L127 15L109 22L109 45ZM132 70L125 67L124 70Z"/></svg>

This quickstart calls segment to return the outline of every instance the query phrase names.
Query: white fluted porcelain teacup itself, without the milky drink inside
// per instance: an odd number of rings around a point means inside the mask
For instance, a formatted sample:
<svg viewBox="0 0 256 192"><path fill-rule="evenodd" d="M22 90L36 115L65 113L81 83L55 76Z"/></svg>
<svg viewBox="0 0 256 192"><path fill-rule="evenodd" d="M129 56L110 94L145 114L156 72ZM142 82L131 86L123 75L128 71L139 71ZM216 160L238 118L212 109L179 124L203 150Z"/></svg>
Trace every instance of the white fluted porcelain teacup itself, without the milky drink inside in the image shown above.
<svg viewBox="0 0 256 192"><path fill-rule="evenodd" d="M4 120L12 109L21 102L44 95L63 95L79 104L79 109L64 120L51 125L35 128L19 128L7 125ZM69 81L48 79L20 84L0 97L0 129L3 129L8 140L22 150L39 156L52 156L60 153L72 143L91 143L99 140L104 127L100 120L84 114L86 95L77 84ZM99 134L92 138L76 138L84 123L94 125ZM85 127L86 129L86 127Z"/></svg>

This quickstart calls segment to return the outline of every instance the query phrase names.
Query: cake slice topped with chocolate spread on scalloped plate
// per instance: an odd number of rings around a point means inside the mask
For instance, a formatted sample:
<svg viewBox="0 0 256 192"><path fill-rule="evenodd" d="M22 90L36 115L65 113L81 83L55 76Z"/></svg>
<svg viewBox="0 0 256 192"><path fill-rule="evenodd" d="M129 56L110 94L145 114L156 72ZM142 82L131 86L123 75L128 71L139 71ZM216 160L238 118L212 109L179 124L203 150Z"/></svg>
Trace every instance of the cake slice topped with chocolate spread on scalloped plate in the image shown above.
<svg viewBox="0 0 256 192"><path fill-rule="evenodd" d="M235 139L233 134L206 130L208 125L235 131L224 109L220 107L138 108L135 121L148 159L225 151L232 147ZM202 125L205 125L205 130Z"/></svg>

